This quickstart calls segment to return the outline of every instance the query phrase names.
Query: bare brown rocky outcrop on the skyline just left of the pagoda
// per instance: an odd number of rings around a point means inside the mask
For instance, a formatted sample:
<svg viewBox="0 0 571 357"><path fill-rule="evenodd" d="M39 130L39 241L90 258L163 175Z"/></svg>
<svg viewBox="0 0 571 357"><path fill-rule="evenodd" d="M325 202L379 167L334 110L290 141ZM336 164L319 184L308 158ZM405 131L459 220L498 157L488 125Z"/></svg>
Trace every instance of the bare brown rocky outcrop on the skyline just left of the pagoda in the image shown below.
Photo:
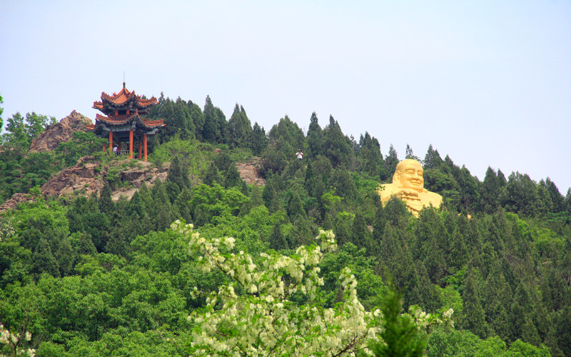
<svg viewBox="0 0 571 357"><path fill-rule="evenodd" d="M77 111L72 111L69 116L61 119L59 123L48 126L43 133L32 140L30 152L54 150L59 143L69 141L74 132L85 130L87 124L93 124L91 119Z"/></svg>

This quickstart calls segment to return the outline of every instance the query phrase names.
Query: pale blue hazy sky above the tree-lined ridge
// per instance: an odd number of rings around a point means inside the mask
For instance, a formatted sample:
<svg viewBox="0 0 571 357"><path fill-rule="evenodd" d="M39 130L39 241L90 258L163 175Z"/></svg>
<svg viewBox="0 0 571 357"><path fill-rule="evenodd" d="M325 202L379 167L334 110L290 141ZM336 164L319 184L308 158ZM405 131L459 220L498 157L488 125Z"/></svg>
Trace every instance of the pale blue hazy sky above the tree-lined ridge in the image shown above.
<svg viewBox="0 0 571 357"><path fill-rule="evenodd" d="M271 129L329 117L383 155L432 144L571 187L571 1L0 0L0 95L94 119L101 92L206 96Z"/></svg>

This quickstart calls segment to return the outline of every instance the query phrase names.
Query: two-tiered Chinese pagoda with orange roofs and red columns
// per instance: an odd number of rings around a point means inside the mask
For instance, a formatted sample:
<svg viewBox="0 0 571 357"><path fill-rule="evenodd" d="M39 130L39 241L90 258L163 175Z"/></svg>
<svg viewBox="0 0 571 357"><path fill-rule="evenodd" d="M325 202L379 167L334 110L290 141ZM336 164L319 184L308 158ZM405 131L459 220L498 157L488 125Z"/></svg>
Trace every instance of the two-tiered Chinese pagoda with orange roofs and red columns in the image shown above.
<svg viewBox="0 0 571 357"><path fill-rule="evenodd" d="M101 93L101 101L94 101L94 109L105 115L97 114L95 125L87 126L87 130L100 138L109 139L109 150L116 155L127 154L133 159L133 141L138 141L138 159L147 161L147 137L155 135L164 124L163 120L148 120L143 118L152 106L158 104L153 96L142 99L135 91L128 91L123 82L123 89L112 96ZM121 143L128 141L128 151L121 150ZM116 144L116 145L113 145ZM116 148L116 149L115 149ZM107 146L104 145L106 150Z"/></svg>

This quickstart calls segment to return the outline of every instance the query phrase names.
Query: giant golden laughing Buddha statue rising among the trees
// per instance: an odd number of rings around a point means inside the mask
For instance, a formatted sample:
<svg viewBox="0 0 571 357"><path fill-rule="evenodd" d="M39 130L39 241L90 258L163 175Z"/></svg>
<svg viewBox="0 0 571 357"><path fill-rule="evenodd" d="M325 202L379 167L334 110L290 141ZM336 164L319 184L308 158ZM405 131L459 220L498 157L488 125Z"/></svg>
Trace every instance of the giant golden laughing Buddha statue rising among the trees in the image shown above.
<svg viewBox="0 0 571 357"><path fill-rule="evenodd" d="M400 161L393 175L393 183L385 183L378 188L380 201L387 203L390 196L403 200L408 210L418 217L424 206L440 207L442 196L424 188L423 166L413 159Z"/></svg>

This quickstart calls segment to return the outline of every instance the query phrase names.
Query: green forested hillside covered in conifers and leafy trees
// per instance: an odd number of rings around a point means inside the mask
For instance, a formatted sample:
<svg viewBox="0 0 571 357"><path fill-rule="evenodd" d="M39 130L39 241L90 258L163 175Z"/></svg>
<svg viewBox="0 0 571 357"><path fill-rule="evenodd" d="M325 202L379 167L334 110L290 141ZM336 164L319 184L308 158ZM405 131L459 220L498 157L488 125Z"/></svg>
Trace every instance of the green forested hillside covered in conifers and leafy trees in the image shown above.
<svg viewBox="0 0 571 357"><path fill-rule="evenodd" d="M379 140L390 137L348 137L333 116L311 115L307 133L288 116L266 131L238 104L227 119L209 97L201 108L161 96L151 112L159 118L167 126L149 141L149 160L170 162L168 177L118 201L112 189L128 182L111 174L100 194L41 196L39 186L81 156L121 159L84 132L29 153L53 119L5 118L0 201L34 199L0 216L0 353L350 356L369 346L400 356L395 331L428 356L570 355L571 191L563 196L549 178L488 169L480 181L433 146L383 155ZM253 156L264 186L236 169ZM405 158L422 162L442 208L415 218L398 199L380 203L375 190ZM323 243L328 231L337 249ZM264 290L276 279L281 293ZM409 314L399 318L400 308ZM373 330L351 325L355 316ZM282 339L265 342L283 326ZM375 333L387 344L365 338Z"/></svg>

